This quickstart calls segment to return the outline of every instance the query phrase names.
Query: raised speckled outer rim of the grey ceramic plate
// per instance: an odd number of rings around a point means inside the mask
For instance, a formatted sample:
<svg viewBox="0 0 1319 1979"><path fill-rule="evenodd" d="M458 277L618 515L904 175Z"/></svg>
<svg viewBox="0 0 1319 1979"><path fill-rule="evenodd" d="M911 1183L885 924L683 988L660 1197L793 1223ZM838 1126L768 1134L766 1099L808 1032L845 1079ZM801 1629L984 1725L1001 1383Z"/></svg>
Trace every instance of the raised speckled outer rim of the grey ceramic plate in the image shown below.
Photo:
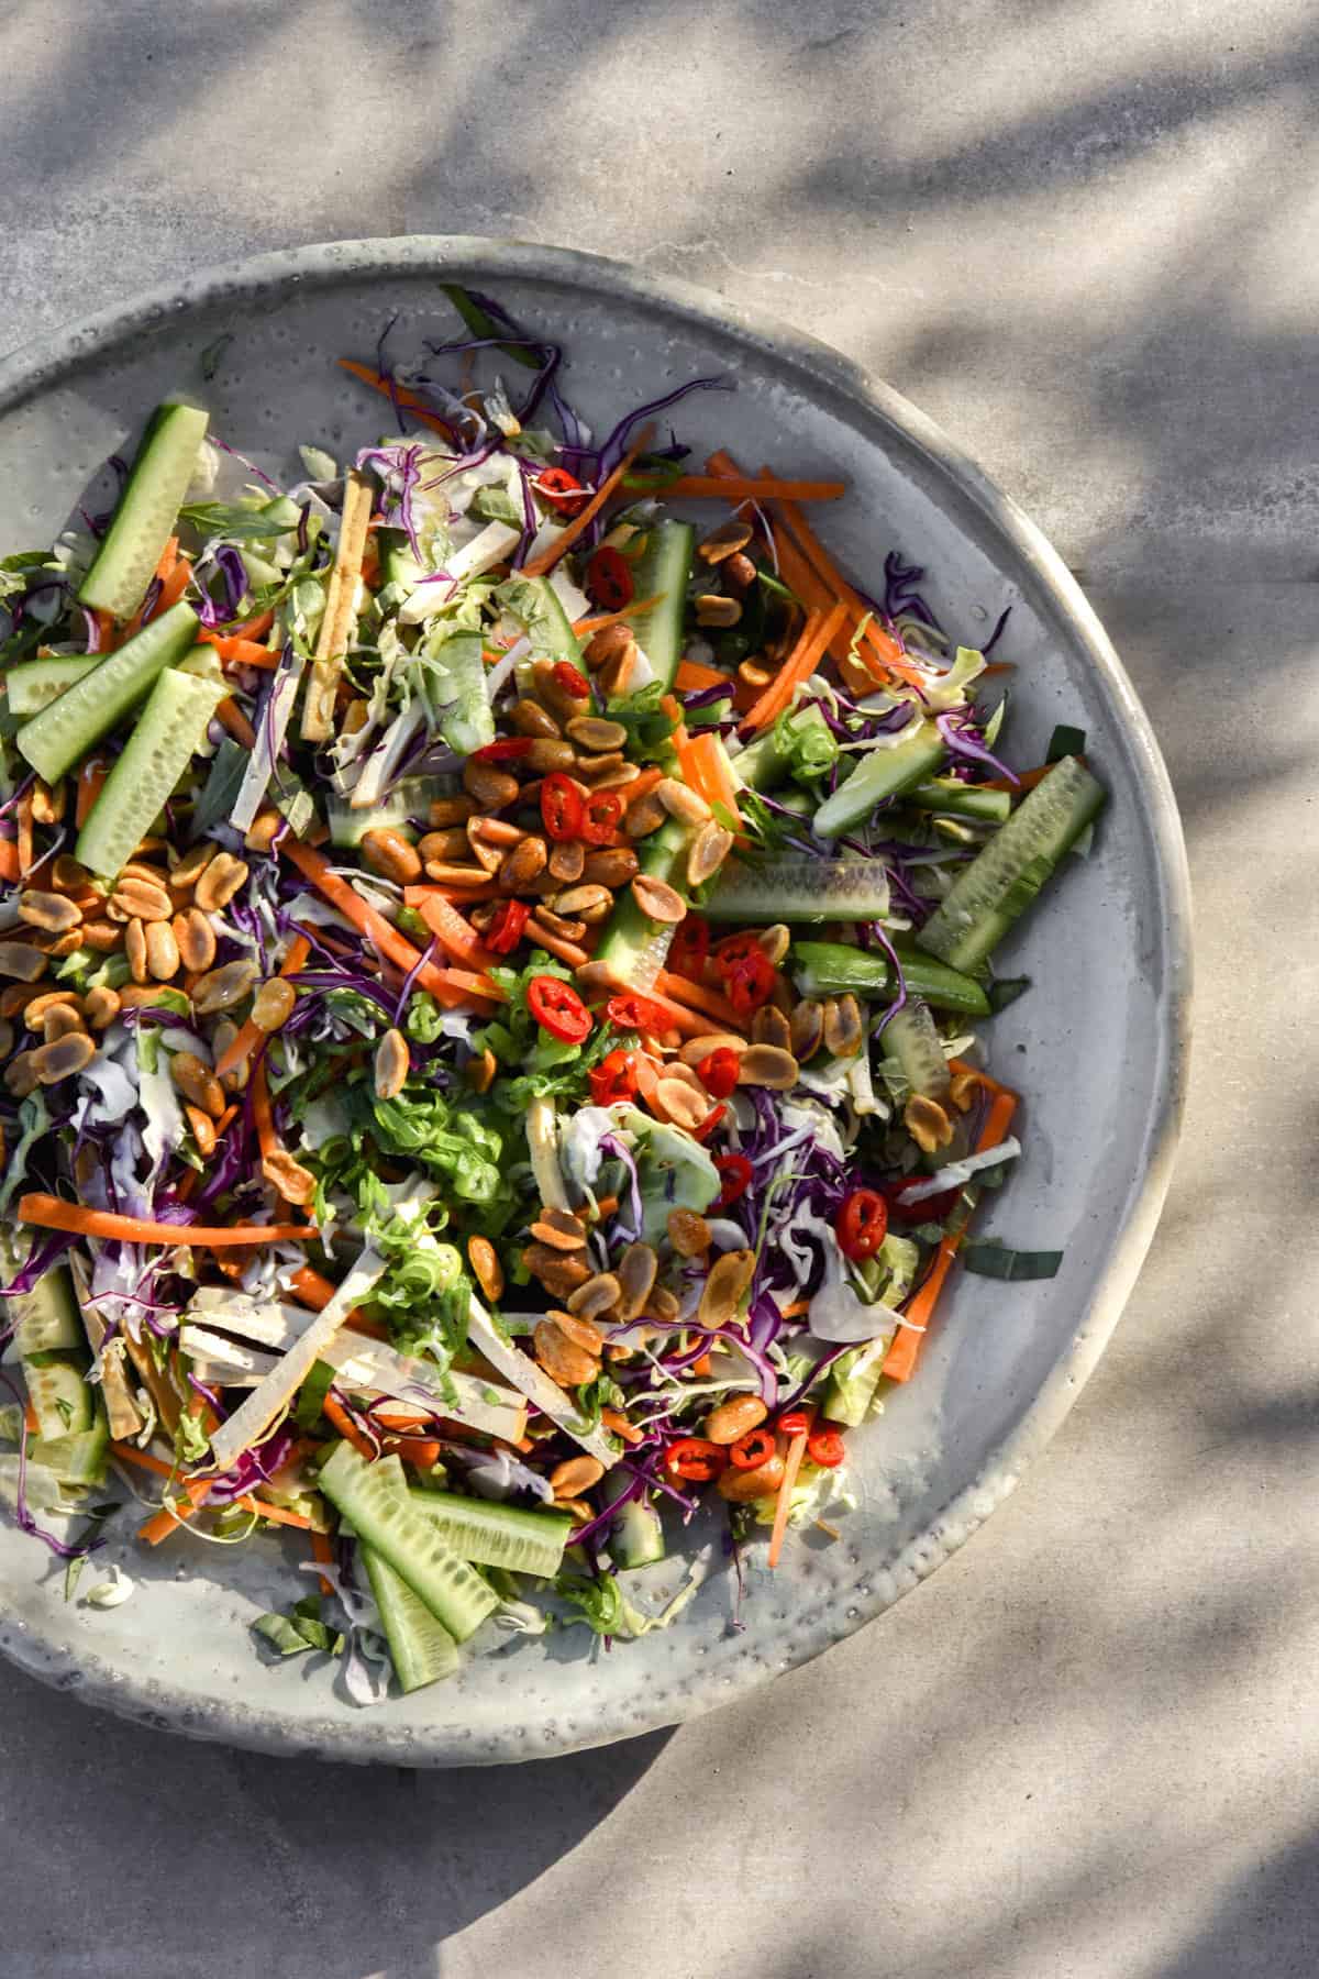
<svg viewBox="0 0 1319 1979"><path fill-rule="evenodd" d="M44 330L6 352L0 356L0 414L16 410L79 364L103 356L113 344L160 329L184 311L241 303L295 285L314 291L364 275L382 281L421 273L453 277L473 267L481 271L481 279L510 277L579 287L595 297L641 303L676 315L688 325L724 336L734 334L746 346L771 356L775 364L797 370L809 390L819 392L825 384L872 420L896 427L904 441L1007 538L1054 610L1070 623L1107 687L1119 714L1133 780L1147 803L1145 825L1161 885L1165 960L1163 993L1155 1005L1159 1053L1147 1114L1147 1160L1137 1195L1127 1207L1125 1223L1113 1239L1107 1265L1084 1312L1080 1334L1058 1354L1018 1423L987 1455L979 1474L953 1492L886 1575L868 1575L886 1579L890 1587L868 1593L840 1587L795 1617L787 1641L775 1645L773 1668L787 1670L809 1662L892 1607L902 1593L971 1538L1062 1427L1121 1318L1163 1209L1187 1098L1192 952L1190 879L1181 817L1149 716L1098 613L1062 556L1024 511L933 420L862 364L769 311L732 303L696 283L575 247L467 234L338 239L273 249L156 285L125 303ZM858 1573L866 1577L864 1569ZM508 1730L473 1742L455 1726L429 1728L415 1722L390 1726L378 1712L297 1724L261 1706L200 1702L182 1686L129 1678L123 1668L103 1662L93 1652L73 1654L24 1623L0 1635L0 1650L34 1678L154 1728L271 1753L388 1765L494 1765L605 1745L702 1716L744 1696L769 1674L765 1664L742 1658L718 1680L704 1684L692 1680L682 1686L680 1696L666 1692L664 1706L655 1714L629 1714L627 1722L621 1722L615 1708L615 1716L605 1716L585 1736L542 1734L536 1740L526 1728L518 1732L510 1724Z"/></svg>

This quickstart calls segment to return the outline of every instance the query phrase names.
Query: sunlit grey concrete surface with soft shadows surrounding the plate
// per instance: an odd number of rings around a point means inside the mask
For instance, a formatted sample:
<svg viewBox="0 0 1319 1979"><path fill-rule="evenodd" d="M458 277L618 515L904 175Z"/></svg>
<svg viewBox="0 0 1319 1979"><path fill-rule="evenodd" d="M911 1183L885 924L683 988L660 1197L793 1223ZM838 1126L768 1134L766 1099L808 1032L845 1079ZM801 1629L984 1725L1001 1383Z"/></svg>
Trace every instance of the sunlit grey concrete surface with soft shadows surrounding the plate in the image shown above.
<svg viewBox="0 0 1319 1979"><path fill-rule="evenodd" d="M1198 898L1181 1170L1012 1502L757 1700L483 1775L4 1672L4 1979L1289 1979L1319 1965L1319 40L1305 0L6 12L0 344L257 247L631 257L884 372L1074 562Z"/></svg>

